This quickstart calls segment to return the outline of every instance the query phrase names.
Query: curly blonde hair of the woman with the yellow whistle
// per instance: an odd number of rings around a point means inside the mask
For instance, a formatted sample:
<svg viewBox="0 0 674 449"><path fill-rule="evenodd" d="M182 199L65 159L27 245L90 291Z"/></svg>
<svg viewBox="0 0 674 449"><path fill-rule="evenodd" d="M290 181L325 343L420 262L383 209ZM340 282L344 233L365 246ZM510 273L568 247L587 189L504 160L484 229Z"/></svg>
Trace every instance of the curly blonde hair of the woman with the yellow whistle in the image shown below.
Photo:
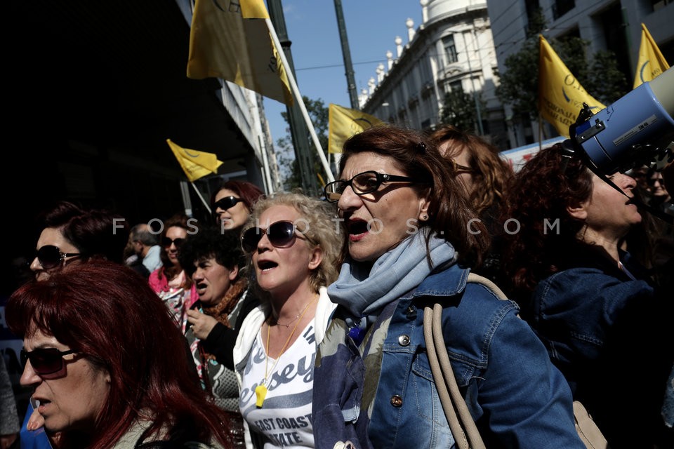
<svg viewBox="0 0 674 449"><path fill-rule="evenodd" d="M328 286L336 281L340 268L340 251L343 246L344 234L334 221L335 214L330 205L324 201L310 198L300 193L280 192L271 196L262 196L253 206L253 211L242 227L241 234L255 227L260 215L272 206L289 206L300 213L298 229L310 249L321 248L323 260L310 274L310 285L315 292L322 286ZM254 273L252 257L248 257L249 273Z"/></svg>

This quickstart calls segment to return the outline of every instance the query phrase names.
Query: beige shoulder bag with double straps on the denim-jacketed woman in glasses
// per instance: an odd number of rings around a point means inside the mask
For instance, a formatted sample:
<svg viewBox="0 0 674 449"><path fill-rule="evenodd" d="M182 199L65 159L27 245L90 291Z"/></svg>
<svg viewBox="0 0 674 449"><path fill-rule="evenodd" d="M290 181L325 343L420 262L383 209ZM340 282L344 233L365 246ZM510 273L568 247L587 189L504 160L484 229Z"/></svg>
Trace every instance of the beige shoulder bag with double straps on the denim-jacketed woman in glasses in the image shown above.
<svg viewBox="0 0 674 449"><path fill-rule="evenodd" d="M491 290L500 300L507 300L505 293L495 283L475 273L468 274L468 282L480 283ZM424 307L423 337L426 342L428 363L435 380L435 388L442 403L449 429L460 449L485 448L475 421L465 405L465 399L458 389L454 371L451 370L449 354L442 335L442 305L433 304L433 308ZM438 382L440 380L440 382ZM609 445L597 424L592 420L583 404L574 401L574 420L576 431L588 449L608 449Z"/></svg>

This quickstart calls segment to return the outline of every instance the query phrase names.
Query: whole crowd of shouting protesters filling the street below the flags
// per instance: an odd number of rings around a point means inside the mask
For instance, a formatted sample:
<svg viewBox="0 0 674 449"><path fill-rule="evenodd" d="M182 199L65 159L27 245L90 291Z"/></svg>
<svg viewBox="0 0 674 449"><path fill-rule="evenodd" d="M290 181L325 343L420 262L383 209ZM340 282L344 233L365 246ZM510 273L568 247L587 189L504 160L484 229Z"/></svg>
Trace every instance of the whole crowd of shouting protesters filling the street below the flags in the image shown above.
<svg viewBox="0 0 674 449"><path fill-rule="evenodd" d="M322 199L228 181L211 222L160 232L61 201L6 307L32 398L20 434L1 406L1 447L458 447L434 304L487 447L586 447L574 401L612 448L673 447L673 232L637 205L674 206L631 173L381 126Z"/></svg>

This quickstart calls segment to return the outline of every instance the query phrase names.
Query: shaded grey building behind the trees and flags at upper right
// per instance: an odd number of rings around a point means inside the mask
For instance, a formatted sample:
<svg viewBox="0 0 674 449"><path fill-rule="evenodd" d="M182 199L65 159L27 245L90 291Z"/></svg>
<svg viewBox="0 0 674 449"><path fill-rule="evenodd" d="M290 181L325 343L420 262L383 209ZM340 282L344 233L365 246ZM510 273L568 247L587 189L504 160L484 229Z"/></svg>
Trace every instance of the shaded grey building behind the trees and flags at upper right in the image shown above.
<svg viewBox="0 0 674 449"><path fill-rule="evenodd" d="M543 29L546 39L580 37L589 42L588 55L612 50L629 86L637 68L642 23L665 59L670 65L674 62L672 0L487 0L487 4L501 73L505 72L505 58L520 50L539 8L546 23ZM528 116L513 116L508 105L505 111L511 147L538 139L537 125Z"/></svg>

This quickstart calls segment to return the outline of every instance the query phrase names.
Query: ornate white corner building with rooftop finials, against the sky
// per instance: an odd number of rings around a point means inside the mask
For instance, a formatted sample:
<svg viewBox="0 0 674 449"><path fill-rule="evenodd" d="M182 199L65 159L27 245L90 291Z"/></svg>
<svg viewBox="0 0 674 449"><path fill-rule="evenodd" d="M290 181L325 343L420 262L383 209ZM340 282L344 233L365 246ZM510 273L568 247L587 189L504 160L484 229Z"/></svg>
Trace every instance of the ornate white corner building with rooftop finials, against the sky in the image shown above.
<svg viewBox="0 0 674 449"><path fill-rule="evenodd" d="M486 1L421 0L423 22L408 19L407 36L374 70L359 96L364 112L411 128L440 123L445 93L473 97L475 133L505 142L505 116L496 98L496 52Z"/></svg>

